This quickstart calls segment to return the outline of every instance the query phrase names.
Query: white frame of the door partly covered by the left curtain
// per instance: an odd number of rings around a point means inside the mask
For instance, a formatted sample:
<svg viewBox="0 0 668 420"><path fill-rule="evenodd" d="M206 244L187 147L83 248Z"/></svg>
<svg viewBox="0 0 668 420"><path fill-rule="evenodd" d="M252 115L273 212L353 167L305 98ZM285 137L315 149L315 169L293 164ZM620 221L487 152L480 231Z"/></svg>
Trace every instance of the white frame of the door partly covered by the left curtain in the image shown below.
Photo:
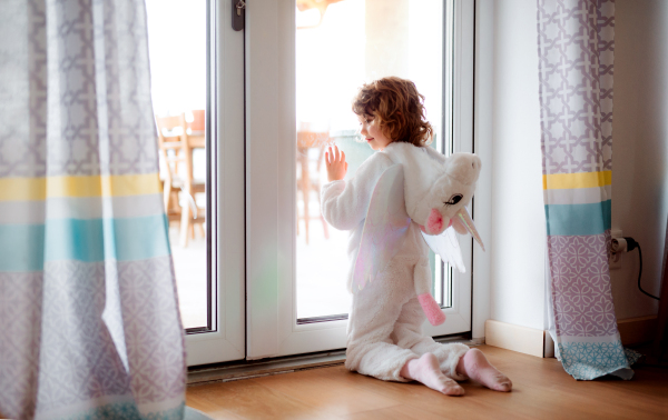
<svg viewBox="0 0 668 420"><path fill-rule="evenodd" d="M216 2L209 18L215 28L210 57L214 118L210 156L214 174L207 186L215 192L212 209L212 294L214 332L186 336L188 366L239 360L245 349L244 247L244 33L232 29L229 0ZM227 6L227 7L226 7ZM209 70L210 71L210 70Z"/></svg>

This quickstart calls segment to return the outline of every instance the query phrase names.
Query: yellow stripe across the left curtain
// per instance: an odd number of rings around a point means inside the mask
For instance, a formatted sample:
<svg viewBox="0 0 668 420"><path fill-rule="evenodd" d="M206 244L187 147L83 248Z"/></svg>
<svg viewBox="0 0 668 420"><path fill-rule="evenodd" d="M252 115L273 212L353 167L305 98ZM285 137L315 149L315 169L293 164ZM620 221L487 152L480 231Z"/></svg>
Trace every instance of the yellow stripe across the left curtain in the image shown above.
<svg viewBox="0 0 668 420"><path fill-rule="evenodd" d="M47 197L124 197L160 192L157 173L0 179L0 201L35 201L45 200Z"/></svg>

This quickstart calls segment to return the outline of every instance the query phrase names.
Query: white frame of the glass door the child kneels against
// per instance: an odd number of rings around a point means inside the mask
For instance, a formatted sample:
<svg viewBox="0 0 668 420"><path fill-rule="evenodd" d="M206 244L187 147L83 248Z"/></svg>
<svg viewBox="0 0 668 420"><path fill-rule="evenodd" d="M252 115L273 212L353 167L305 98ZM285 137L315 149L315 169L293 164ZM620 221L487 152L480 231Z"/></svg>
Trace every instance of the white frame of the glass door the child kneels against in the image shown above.
<svg viewBox="0 0 668 420"><path fill-rule="evenodd" d="M455 1L455 151L472 151L474 3ZM347 320L296 324L295 0L246 6L246 357L345 347ZM461 237L466 273L453 276L441 336L471 330L472 240Z"/></svg>

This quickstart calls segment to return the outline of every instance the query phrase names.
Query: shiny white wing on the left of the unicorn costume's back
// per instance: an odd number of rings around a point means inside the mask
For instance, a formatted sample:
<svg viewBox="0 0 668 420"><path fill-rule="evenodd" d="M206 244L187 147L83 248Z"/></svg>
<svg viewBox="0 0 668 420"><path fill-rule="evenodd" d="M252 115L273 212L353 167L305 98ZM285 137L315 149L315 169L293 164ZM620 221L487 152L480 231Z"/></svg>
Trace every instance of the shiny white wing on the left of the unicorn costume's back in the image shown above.
<svg viewBox="0 0 668 420"><path fill-rule="evenodd" d="M410 224L403 168L394 164L383 172L371 196L353 271L353 293L385 269L401 248Z"/></svg>

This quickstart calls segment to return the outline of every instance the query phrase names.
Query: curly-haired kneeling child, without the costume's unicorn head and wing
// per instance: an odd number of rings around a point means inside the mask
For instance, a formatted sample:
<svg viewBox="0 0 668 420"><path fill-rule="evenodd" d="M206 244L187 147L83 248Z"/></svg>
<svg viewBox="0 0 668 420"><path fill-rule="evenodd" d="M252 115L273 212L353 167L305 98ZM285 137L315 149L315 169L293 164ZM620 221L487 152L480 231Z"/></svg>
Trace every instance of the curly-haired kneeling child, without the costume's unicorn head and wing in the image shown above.
<svg viewBox="0 0 668 420"><path fill-rule="evenodd" d="M423 101L424 96L410 80L390 77L364 84L354 99L353 112L360 119L362 136L377 153L366 159L348 181L344 181L345 153L336 146L325 153L330 182L323 186L321 208L330 224L352 231L348 291L373 189L394 164L386 152L405 142L423 148L435 160L444 159L426 147L433 128L424 120ZM346 368L382 380L415 380L448 396L462 396L464 389L455 380L466 378L497 391L510 391L510 379L480 350L461 343L440 344L422 334L425 316L415 294L413 270L428 252L420 228L411 222L400 251L384 271L353 296Z"/></svg>

